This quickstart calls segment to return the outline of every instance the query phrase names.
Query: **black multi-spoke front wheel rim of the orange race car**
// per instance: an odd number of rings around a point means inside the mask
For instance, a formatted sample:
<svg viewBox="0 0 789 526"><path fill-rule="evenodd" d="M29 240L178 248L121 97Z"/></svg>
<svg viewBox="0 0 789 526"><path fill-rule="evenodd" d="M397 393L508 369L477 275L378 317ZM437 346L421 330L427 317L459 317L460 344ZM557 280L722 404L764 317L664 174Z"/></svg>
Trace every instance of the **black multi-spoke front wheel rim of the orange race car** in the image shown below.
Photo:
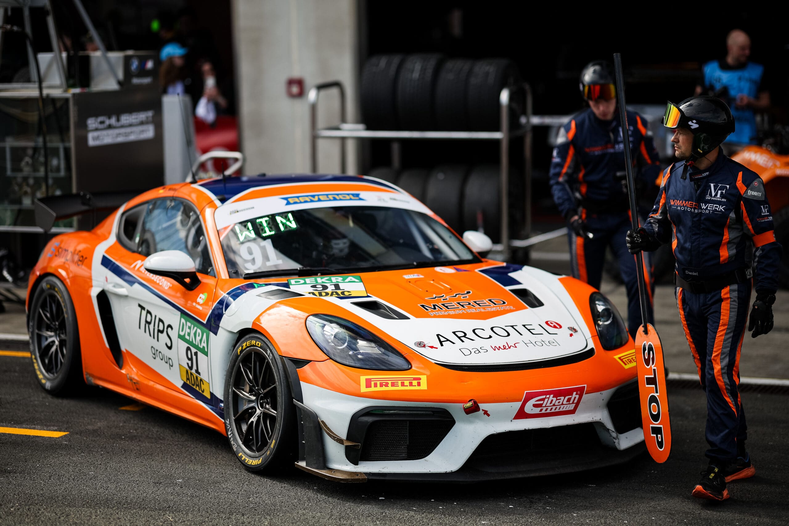
<svg viewBox="0 0 789 526"><path fill-rule="evenodd" d="M260 455L274 438L278 418L271 361L260 349L249 349L236 362L230 382L230 419L241 449L248 455Z"/></svg>

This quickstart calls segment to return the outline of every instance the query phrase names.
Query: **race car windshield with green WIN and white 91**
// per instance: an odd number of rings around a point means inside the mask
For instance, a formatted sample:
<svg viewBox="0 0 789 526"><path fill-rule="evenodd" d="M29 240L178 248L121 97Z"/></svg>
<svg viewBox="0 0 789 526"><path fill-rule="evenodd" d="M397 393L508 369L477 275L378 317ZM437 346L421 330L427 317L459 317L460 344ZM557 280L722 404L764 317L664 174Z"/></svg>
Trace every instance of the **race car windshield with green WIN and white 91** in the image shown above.
<svg viewBox="0 0 789 526"><path fill-rule="evenodd" d="M320 207L264 215L219 231L230 277L302 267L386 270L479 261L446 226L390 207Z"/></svg>

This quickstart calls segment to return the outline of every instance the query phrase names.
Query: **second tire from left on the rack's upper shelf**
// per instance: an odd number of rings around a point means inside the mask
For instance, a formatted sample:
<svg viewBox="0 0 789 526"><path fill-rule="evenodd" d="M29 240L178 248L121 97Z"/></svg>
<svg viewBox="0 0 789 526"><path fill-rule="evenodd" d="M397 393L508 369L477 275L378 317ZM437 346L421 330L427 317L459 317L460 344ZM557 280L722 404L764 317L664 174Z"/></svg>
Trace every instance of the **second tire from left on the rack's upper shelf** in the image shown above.
<svg viewBox="0 0 789 526"><path fill-rule="evenodd" d="M401 129L436 128L433 94L442 62L441 54L412 54L403 61L397 79L397 110Z"/></svg>

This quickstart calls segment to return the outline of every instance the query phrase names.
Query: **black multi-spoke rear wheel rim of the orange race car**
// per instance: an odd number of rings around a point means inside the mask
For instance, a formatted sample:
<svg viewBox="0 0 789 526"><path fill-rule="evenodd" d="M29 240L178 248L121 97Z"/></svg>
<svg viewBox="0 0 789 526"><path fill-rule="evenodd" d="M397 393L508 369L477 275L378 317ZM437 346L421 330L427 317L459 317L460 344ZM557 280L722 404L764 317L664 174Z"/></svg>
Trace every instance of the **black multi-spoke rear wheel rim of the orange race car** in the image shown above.
<svg viewBox="0 0 789 526"><path fill-rule="evenodd" d="M52 379L65 364L68 338L63 304L54 292L48 291L39 304L34 330L41 372Z"/></svg>

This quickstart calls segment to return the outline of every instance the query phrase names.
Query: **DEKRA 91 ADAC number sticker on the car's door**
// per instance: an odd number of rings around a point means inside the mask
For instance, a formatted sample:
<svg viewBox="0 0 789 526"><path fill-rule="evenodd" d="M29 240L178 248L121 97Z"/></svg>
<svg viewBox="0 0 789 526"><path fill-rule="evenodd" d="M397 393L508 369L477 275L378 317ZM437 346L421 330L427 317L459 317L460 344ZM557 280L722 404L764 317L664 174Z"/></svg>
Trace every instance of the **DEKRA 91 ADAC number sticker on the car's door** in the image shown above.
<svg viewBox="0 0 789 526"><path fill-rule="evenodd" d="M178 321L178 370L181 380L204 397L211 398L208 330L196 319L184 314Z"/></svg>

